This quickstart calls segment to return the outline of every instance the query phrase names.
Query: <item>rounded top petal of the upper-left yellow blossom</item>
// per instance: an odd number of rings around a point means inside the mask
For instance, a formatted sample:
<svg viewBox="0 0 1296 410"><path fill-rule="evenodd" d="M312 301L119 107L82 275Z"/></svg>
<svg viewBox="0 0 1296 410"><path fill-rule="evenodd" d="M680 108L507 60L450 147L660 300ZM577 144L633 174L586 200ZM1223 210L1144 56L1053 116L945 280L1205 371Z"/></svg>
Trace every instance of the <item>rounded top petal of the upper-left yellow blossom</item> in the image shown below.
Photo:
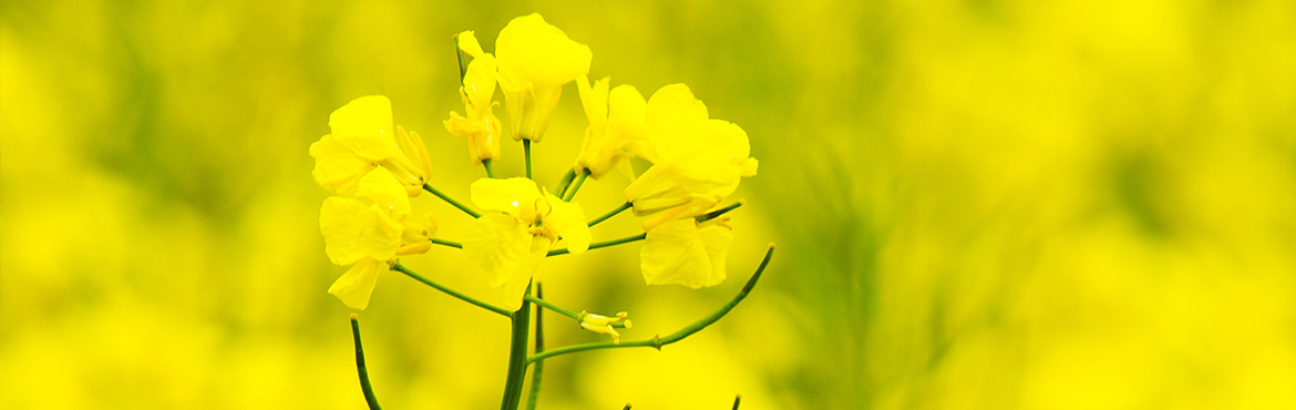
<svg viewBox="0 0 1296 410"><path fill-rule="evenodd" d="M333 139L356 156L382 161L400 154L391 126L391 100L385 96L364 96L328 117Z"/></svg>

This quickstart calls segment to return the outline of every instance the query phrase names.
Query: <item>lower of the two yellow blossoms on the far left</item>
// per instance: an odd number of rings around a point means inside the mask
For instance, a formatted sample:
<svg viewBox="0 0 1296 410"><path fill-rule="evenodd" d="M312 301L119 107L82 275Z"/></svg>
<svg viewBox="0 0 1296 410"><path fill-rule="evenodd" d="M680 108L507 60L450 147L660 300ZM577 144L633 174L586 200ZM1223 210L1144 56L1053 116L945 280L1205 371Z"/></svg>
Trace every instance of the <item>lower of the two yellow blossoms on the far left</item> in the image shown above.
<svg viewBox="0 0 1296 410"><path fill-rule="evenodd" d="M410 218L410 197L386 167L360 178L355 197L333 196L320 208L324 252L333 263L355 263L328 292L353 309L369 305L378 274L397 256L428 252L437 223L424 226Z"/></svg>

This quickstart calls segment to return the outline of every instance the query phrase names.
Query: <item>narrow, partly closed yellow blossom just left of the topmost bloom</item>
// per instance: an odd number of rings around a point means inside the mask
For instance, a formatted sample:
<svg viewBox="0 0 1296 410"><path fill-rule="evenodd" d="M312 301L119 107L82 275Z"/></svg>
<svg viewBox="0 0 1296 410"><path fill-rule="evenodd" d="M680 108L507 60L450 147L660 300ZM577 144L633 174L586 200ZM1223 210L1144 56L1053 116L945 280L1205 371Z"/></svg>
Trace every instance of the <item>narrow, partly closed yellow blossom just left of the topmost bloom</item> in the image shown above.
<svg viewBox="0 0 1296 410"><path fill-rule="evenodd" d="M446 131L468 139L468 153L473 162L481 163L485 160L499 158L499 118L491 113L499 102L492 102L495 96L495 56L482 51L481 43L472 31L464 31L455 36L459 49L464 51L473 61L468 64L464 73L463 87L459 96L464 100L467 117L460 117L456 112L450 112L446 119Z"/></svg>

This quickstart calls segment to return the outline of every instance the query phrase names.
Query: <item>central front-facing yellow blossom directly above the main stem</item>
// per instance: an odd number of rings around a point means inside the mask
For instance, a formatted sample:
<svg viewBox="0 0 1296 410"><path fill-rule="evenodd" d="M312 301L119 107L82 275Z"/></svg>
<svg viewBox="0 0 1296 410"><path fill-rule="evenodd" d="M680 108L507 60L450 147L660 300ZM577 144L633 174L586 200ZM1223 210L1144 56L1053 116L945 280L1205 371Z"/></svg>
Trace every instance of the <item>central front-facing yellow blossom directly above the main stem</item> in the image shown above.
<svg viewBox="0 0 1296 410"><path fill-rule="evenodd" d="M464 236L464 252L481 263L490 284L503 287L504 304L517 309L531 275L559 239L575 254L590 248L581 205L542 192L526 178L478 179L472 186L477 218Z"/></svg>

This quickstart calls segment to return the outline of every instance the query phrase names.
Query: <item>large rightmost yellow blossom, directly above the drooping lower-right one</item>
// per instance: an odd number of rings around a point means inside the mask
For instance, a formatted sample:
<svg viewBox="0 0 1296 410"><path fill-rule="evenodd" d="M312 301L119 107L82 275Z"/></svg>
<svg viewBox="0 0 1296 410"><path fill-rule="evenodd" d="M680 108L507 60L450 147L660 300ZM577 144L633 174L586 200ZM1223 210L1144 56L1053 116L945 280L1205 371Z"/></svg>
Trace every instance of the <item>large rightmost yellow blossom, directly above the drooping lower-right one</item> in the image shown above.
<svg viewBox="0 0 1296 410"><path fill-rule="evenodd" d="M757 161L741 127L712 119L706 105L684 84L670 84L648 99L644 126L651 145L642 156L653 162L626 187L636 215L664 211L644 230L715 206L737 189L741 176L756 175Z"/></svg>

